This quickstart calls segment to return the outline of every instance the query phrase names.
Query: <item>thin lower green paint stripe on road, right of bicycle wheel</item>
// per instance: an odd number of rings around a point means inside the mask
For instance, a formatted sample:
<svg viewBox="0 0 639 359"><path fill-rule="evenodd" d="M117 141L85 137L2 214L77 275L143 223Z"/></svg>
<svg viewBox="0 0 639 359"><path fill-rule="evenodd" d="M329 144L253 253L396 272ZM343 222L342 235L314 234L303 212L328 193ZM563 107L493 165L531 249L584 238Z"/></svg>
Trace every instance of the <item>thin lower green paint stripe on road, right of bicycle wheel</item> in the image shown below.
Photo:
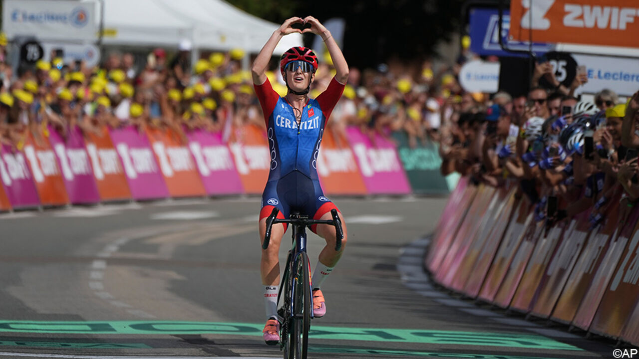
<svg viewBox="0 0 639 359"><path fill-rule="evenodd" d="M557 359L542 356L519 356L519 355L490 355L477 353L445 353L429 351L407 351L407 350L387 350L387 349L357 349L357 348L335 348L335 347L315 347L309 346L312 353L338 353L338 354L364 354L364 355L396 355L396 356L422 356L425 358L458 358L458 359Z"/></svg>

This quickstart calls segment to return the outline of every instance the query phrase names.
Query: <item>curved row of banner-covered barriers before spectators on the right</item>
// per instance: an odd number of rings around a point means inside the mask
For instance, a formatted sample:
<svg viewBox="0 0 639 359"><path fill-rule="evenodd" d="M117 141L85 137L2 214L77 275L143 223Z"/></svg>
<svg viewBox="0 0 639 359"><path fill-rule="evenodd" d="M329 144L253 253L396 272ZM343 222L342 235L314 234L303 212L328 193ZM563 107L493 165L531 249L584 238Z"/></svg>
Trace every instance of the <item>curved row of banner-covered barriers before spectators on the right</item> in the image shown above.
<svg viewBox="0 0 639 359"><path fill-rule="evenodd" d="M514 185L460 179L430 248L438 284L532 317L639 344L639 209L619 189L591 228L590 210L546 228Z"/></svg>

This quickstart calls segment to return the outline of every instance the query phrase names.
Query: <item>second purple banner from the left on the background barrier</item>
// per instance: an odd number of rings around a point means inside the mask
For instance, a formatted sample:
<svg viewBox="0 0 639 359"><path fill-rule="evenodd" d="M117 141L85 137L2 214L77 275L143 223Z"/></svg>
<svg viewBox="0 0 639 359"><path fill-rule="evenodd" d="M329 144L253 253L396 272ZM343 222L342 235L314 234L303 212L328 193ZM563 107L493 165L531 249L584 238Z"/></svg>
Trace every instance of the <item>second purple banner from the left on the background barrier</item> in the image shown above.
<svg viewBox="0 0 639 359"><path fill-rule="evenodd" d="M58 158L69 201L72 204L100 202L82 130L78 126L69 128L66 139L63 139L55 128L49 126L49 142Z"/></svg>

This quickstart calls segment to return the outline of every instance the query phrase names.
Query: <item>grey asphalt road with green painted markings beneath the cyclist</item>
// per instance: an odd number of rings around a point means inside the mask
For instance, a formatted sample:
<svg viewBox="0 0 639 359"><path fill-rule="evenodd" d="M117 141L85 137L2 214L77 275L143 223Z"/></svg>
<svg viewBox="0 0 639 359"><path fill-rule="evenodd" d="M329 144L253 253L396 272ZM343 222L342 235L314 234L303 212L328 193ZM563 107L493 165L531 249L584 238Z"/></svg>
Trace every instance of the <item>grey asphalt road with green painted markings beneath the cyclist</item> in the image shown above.
<svg viewBox="0 0 639 359"><path fill-rule="evenodd" d="M433 287L425 236L446 199L334 201L350 237L310 358L612 358L611 342ZM261 339L258 211L243 198L0 215L0 359L281 357ZM309 240L315 263L323 241Z"/></svg>

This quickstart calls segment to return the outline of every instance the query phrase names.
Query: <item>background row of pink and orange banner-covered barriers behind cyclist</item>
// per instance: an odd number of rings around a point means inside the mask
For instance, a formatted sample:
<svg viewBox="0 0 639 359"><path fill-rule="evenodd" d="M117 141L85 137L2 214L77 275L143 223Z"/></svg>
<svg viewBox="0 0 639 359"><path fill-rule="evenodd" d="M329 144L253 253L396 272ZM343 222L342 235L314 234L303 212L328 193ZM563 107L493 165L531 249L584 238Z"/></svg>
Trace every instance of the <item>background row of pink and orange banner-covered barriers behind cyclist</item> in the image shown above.
<svg viewBox="0 0 639 359"><path fill-rule="evenodd" d="M270 149L274 139L257 125L228 130L223 135L152 126L105 126L87 132L78 126L66 131L53 126L27 129L17 146L0 147L0 211L261 194L275 164ZM444 178L434 168L440 164L432 158L437 155L436 145L410 149L417 151L410 154L405 137L399 133L389 137L371 135L357 127L347 128L341 135L325 130L321 151L312 163L325 194L446 192L454 176ZM403 160L393 141L399 142ZM409 176L404 165L410 165ZM415 175L416 171L422 172Z"/></svg>

